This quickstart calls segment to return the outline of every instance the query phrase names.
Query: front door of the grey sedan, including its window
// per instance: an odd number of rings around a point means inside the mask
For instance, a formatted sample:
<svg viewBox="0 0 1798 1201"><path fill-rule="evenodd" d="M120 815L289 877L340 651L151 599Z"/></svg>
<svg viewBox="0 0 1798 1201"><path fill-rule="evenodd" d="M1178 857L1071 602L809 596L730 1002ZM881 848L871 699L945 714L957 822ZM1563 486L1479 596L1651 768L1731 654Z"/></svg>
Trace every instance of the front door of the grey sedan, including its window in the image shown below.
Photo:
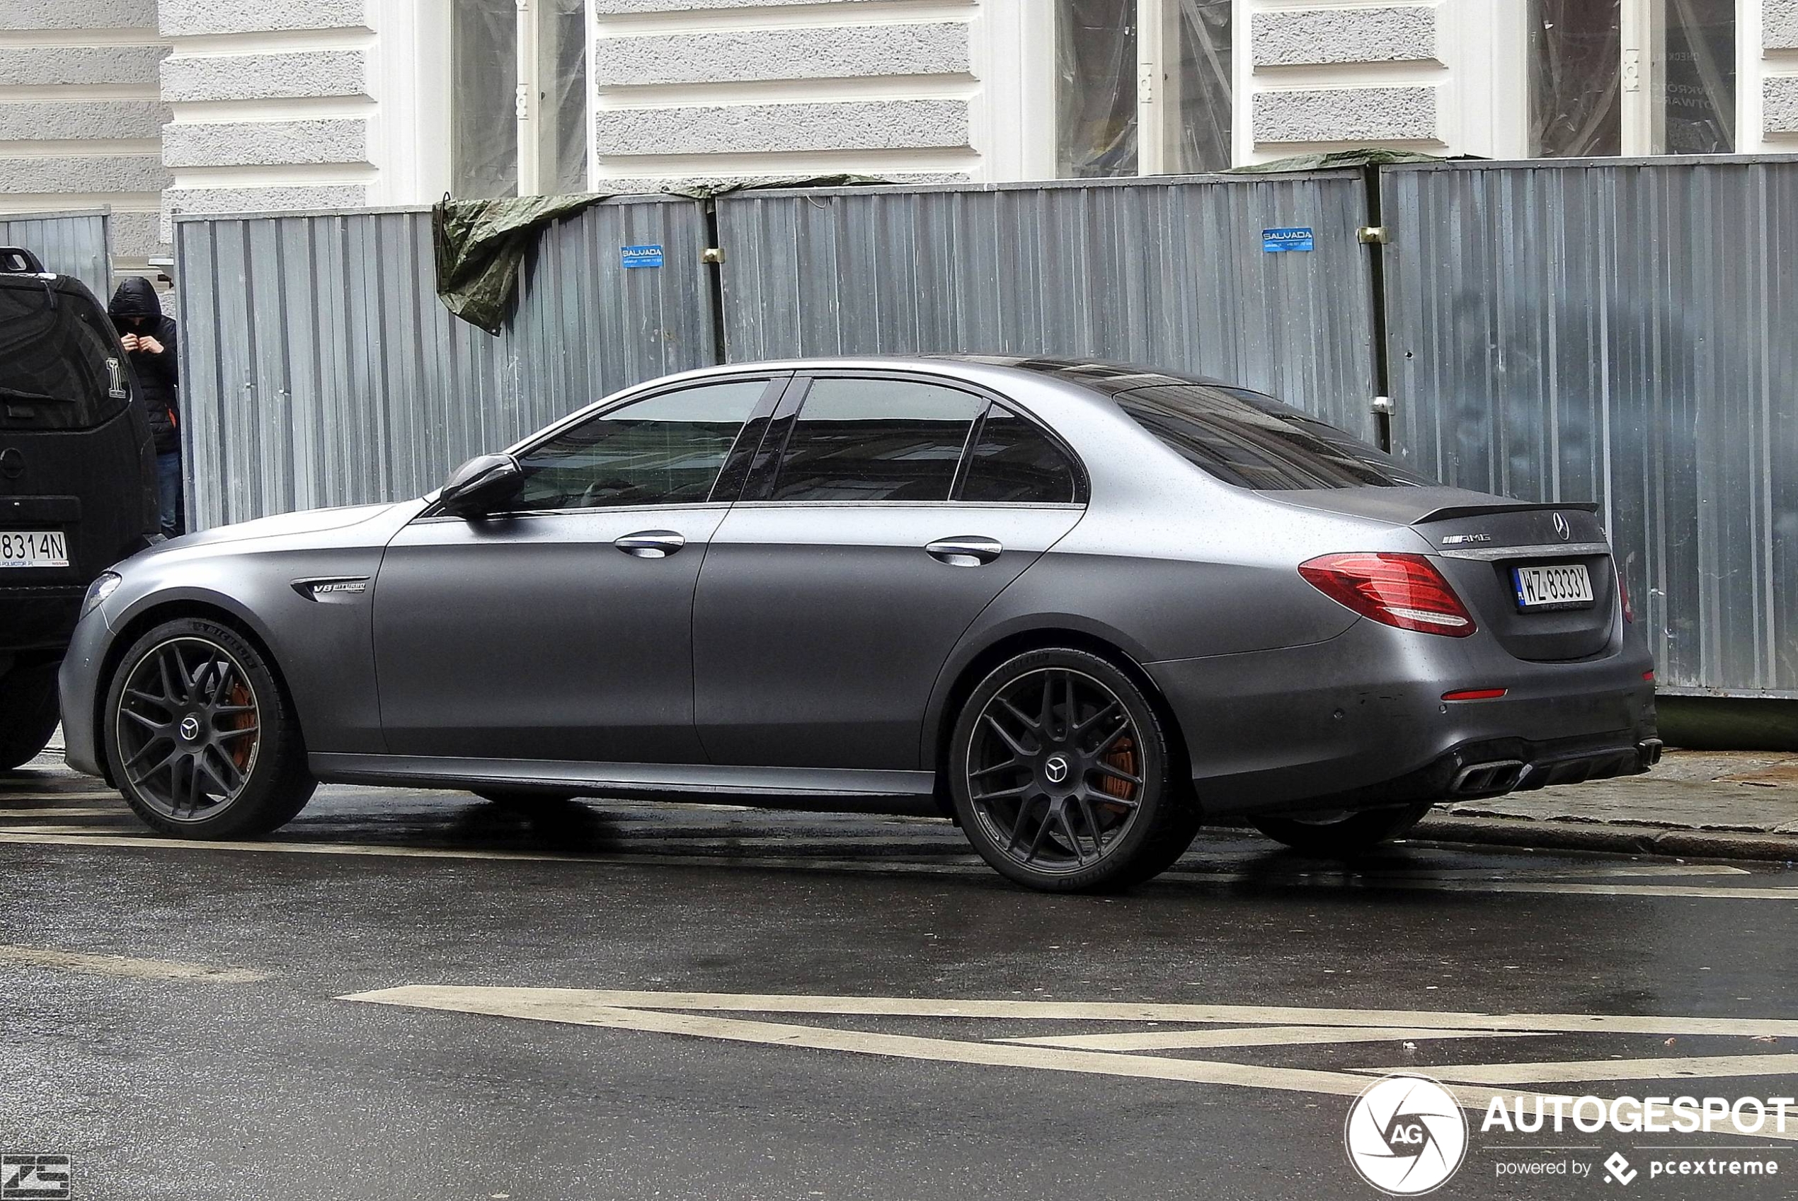
<svg viewBox="0 0 1798 1201"><path fill-rule="evenodd" d="M608 409L523 451L503 513L403 530L374 585L387 750L701 761L694 582L730 508L721 469L775 388L732 379Z"/></svg>

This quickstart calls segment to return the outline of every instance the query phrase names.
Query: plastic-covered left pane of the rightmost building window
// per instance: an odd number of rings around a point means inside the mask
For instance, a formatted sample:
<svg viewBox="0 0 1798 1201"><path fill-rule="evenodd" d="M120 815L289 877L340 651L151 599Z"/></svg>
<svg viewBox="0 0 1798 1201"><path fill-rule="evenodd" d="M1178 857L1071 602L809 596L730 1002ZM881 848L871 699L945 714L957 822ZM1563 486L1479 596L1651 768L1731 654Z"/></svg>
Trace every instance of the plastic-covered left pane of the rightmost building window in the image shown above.
<svg viewBox="0 0 1798 1201"><path fill-rule="evenodd" d="M1530 154L1620 154L1622 5L1530 0Z"/></svg>

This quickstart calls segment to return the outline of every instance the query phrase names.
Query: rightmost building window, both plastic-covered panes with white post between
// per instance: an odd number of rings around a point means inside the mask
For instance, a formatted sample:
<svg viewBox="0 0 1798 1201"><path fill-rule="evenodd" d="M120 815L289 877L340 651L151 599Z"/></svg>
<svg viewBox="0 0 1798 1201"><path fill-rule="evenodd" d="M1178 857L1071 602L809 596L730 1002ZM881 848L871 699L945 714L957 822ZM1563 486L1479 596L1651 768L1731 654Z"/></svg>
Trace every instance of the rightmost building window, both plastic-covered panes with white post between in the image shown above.
<svg viewBox="0 0 1798 1201"><path fill-rule="evenodd" d="M1530 0L1530 153L1733 153L1735 4Z"/></svg>

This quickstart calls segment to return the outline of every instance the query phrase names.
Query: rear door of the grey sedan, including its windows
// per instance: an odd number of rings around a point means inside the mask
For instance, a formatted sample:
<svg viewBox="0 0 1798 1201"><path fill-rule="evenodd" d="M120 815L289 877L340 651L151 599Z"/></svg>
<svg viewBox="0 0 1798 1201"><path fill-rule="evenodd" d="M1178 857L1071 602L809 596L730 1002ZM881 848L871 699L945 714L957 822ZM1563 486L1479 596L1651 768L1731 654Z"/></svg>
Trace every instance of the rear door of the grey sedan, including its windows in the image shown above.
<svg viewBox="0 0 1798 1201"><path fill-rule="evenodd" d="M919 770L951 648L1082 501L1066 449L985 395L903 373L797 379L699 573L710 761Z"/></svg>

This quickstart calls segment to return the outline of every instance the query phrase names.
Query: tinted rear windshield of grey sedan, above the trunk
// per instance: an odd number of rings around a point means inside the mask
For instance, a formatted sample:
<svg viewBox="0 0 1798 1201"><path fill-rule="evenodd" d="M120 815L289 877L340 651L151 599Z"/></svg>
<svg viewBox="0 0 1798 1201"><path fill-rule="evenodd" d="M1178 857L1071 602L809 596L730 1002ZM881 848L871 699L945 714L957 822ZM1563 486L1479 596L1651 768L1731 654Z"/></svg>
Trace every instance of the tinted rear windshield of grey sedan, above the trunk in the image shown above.
<svg viewBox="0 0 1798 1201"><path fill-rule="evenodd" d="M1117 402L1187 461L1239 488L1435 483L1334 425L1260 393L1178 384L1127 391Z"/></svg>

